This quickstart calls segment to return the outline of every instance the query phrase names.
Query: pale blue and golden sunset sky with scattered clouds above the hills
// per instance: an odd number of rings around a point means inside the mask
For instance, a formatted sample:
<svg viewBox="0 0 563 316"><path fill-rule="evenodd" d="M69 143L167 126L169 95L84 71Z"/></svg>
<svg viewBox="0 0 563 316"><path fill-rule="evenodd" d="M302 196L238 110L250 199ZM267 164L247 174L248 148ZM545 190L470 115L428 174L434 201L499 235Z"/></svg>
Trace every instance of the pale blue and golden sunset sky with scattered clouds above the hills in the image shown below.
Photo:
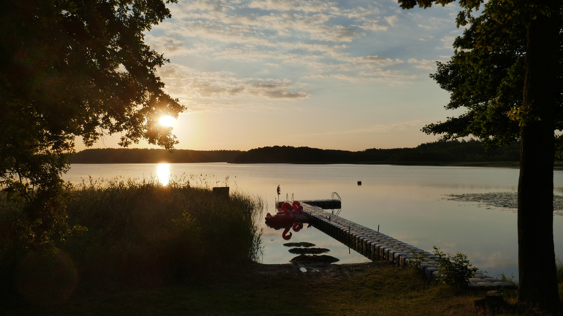
<svg viewBox="0 0 563 316"><path fill-rule="evenodd" d="M448 61L456 3L401 10L396 1L235 0L168 4L145 42L187 110L178 149L414 147L420 129L461 113L429 78ZM119 134L94 147L118 147ZM131 147L157 148L141 142ZM83 149L77 139L77 150Z"/></svg>

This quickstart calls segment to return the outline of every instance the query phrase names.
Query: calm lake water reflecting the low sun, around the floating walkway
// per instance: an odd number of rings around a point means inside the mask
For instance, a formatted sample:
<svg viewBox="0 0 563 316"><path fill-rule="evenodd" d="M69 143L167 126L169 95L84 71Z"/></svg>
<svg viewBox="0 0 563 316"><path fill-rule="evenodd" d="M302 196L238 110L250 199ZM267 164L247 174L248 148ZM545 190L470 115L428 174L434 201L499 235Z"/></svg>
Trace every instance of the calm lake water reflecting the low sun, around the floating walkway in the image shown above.
<svg viewBox="0 0 563 316"><path fill-rule="evenodd" d="M342 198L343 218L377 229L400 241L431 251L462 252L471 263L489 274L514 273L517 266L517 214L509 202L481 203L452 200L450 195L479 197L480 193L504 192L514 196L519 170L395 165L293 165L293 164L74 164L64 179L78 183L99 178L157 177L167 183L169 175L195 175L196 183L217 183L225 178L231 190L261 196L273 211L276 187L295 200ZM361 181L361 186L356 183ZM555 193L563 192L563 171L554 171ZM490 195L489 195L490 196ZM498 196L498 195L493 195ZM475 198L473 198L475 200ZM477 199L479 200L479 199ZM496 206L494 206L496 205ZM506 207L504 207L506 206ZM557 214L562 214L561 212ZM563 257L563 216L554 215L556 255ZM287 263L289 254L283 229L264 228L263 263ZM309 241L328 248L339 263L368 261L318 229L292 231L289 242Z"/></svg>

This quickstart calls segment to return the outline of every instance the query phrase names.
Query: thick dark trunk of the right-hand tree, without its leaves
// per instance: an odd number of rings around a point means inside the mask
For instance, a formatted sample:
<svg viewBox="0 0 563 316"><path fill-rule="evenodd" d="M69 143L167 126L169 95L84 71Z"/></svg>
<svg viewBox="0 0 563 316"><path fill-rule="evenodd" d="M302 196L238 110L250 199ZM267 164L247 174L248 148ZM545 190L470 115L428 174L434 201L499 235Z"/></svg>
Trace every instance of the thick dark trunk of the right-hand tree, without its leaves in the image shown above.
<svg viewBox="0 0 563 316"><path fill-rule="evenodd" d="M556 1L545 1L552 4ZM555 13L555 15L557 12ZM557 16L538 15L528 25L524 110L518 183L519 301L559 313L553 246L553 118L558 67Z"/></svg>

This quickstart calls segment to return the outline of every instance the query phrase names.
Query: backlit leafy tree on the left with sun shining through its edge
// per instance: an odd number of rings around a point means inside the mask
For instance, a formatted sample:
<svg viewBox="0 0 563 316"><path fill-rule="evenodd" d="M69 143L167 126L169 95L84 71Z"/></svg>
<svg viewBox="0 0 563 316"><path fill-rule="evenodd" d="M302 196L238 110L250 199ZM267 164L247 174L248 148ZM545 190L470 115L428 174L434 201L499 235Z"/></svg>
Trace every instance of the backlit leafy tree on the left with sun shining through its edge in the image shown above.
<svg viewBox="0 0 563 316"><path fill-rule="evenodd" d="M0 180L29 199L25 236L43 244L65 224L55 210L64 208L60 175L75 137L87 146L106 133L121 133L125 147L177 143L157 121L184 107L155 75L167 60L144 43L171 15L163 0L0 0L0 8Z"/></svg>

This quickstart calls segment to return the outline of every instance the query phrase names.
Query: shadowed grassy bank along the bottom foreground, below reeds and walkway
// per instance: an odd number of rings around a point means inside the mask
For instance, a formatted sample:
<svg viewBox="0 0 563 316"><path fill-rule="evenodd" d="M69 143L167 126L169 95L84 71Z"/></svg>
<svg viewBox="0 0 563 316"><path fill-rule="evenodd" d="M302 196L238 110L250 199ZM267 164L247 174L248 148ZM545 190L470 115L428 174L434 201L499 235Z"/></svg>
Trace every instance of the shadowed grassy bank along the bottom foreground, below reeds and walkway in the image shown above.
<svg viewBox="0 0 563 316"><path fill-rule="evenodd" d="M54 306L20 305L12 315L474 315L475 296L428 285L388 263L333 265L301 273L258 268L211 283L123 288Z"/></svg>

